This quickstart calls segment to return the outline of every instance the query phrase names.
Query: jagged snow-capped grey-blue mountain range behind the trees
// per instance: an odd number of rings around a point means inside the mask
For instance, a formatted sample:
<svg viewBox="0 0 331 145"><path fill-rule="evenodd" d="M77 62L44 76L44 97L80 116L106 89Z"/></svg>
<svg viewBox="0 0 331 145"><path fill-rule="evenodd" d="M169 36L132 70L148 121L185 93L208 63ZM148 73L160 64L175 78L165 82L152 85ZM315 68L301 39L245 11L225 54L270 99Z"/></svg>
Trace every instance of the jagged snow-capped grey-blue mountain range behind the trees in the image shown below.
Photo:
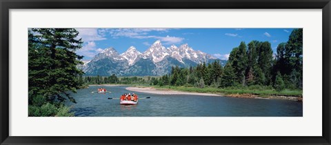
<svg viewBox="0 0 331 145"><path fill-rule="evenodd" d="M92 60L79 66L87 76L159 76L171 71L172 66L190 67L217 60L205 52L193 50L187 43L165 48L161 41L155 41L148 50L141 53L131 46L119 54L114 48L107 48ZM219 60L219 59L218 59ZM222 66L225 60L219 60Z"/></svg>

